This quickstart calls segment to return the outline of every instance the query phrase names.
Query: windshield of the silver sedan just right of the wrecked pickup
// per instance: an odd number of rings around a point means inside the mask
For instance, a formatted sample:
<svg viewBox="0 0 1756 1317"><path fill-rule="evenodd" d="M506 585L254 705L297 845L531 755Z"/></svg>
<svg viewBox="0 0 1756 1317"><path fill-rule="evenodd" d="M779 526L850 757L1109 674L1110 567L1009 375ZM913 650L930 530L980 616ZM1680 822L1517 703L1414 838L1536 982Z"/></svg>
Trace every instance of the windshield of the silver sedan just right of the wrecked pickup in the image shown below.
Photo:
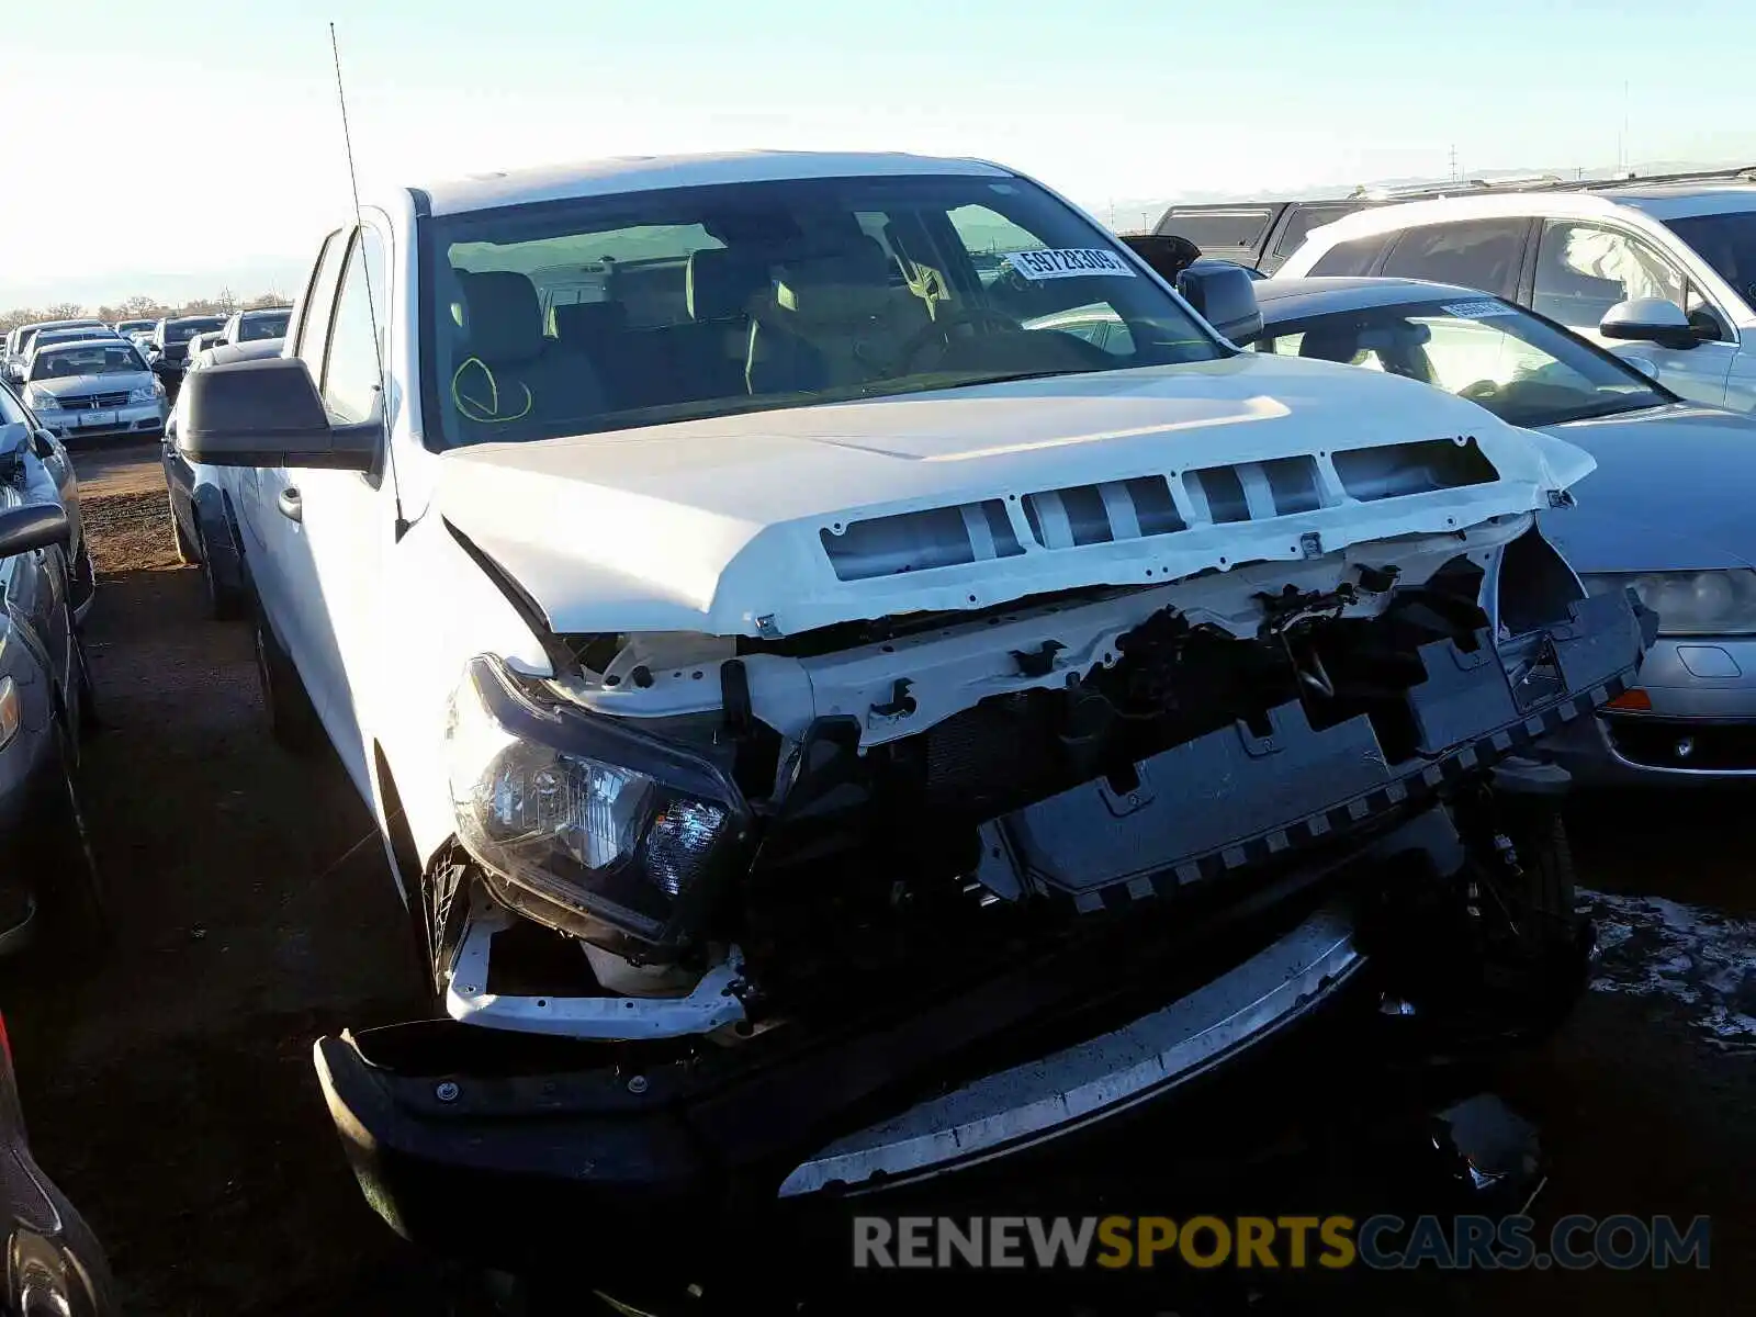
<svg viewBox="0 0 1756 1317"><path fill-rule="evenodd" d="M1273 302L1264 307L1273 313ZM1336 311L1268 325L1256 351L1408 376L1522 427L1658 407L1672 397L1631 365L1493 297Z"/></svg>

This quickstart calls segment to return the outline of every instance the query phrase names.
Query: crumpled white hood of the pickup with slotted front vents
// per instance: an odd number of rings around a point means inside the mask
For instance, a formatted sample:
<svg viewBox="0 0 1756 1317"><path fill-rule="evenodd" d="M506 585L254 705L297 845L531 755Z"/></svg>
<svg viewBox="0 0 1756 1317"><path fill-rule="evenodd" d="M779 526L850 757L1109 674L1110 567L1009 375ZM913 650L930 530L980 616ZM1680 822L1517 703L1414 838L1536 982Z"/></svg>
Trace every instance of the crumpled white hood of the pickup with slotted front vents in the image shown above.
<svg viewBox="0 0 1756 1317"><path fill-rule="evenodd" d="M1343 490L1331 457L1465 435L1498 479L1363 502ZM1280 458L1317 472L1321 506L1278 513L1254 464ZM1212 467L1241 474L1247 520L1215 520L1189 476ZM1245 353L483 444L444 457L439 511L555 630L778 636L1456 530L1547 507L1593 467L1573 444L1426 385ZM1069 543L1066 525L1033 527L1026 515L1059 507L1033 493L1106 486L1110 500L1141 479L1164 481L1185 529L1145 534L1124 507L1108 543ZM952 511L932 527L896 523L897 544L955 530L945 518L961 516L969 560L838 574L829 546L852 543L841 539L852 523L924 509Z"/></svg>

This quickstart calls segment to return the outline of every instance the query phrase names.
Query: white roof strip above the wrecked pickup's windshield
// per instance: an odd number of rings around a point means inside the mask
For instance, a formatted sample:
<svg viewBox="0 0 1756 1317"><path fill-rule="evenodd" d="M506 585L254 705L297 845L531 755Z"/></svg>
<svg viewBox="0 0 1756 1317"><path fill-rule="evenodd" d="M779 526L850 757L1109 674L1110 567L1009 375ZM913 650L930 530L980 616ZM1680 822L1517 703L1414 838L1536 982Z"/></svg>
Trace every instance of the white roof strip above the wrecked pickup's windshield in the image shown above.
<svg viewBox="0 0 1756 1317"><path fill-rule="evenodd" d="M485 211L497 205L655 191L716 183L778 179L871 177L883 174L969 174L1011 177L980 160L915 156L901 151L727 151L688 156L615 156L536 169L471 174L421 188L434 214Z"/></svg>

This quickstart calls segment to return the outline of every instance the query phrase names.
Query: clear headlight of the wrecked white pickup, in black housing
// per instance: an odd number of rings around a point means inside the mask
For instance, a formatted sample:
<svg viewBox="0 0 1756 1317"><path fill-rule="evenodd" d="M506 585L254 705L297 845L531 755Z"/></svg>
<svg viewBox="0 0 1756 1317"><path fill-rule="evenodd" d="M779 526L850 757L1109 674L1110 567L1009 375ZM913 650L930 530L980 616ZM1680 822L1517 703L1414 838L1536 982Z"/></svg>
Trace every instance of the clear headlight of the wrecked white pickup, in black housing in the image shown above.
<svg viewBox="0 0 1756 1317"><path fill-rule="evenodd" d="M518 889L497 894L588 941L687 941L750 831L716 764L546 701L492 658L451 697L446 753L458 839Z"/></svg>

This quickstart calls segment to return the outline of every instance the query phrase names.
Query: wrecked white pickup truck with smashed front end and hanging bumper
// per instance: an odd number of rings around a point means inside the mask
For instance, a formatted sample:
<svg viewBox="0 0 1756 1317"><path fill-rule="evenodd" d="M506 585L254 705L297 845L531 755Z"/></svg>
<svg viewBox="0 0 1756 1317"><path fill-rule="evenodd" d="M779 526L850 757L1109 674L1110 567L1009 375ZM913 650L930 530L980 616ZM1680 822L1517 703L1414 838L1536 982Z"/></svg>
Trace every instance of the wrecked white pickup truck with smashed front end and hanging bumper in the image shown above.
<svg viewBox="0 0 1756 1317"><path fill-rule="evenodd" d="M1536 529L1591 458L1180 277L990 163L620 160L349 214L284 356L188 378L443 1006L316 1048L399 1229L681 1247L1366 983L1570 999L1540 738L1651 629Z"/></svg>

